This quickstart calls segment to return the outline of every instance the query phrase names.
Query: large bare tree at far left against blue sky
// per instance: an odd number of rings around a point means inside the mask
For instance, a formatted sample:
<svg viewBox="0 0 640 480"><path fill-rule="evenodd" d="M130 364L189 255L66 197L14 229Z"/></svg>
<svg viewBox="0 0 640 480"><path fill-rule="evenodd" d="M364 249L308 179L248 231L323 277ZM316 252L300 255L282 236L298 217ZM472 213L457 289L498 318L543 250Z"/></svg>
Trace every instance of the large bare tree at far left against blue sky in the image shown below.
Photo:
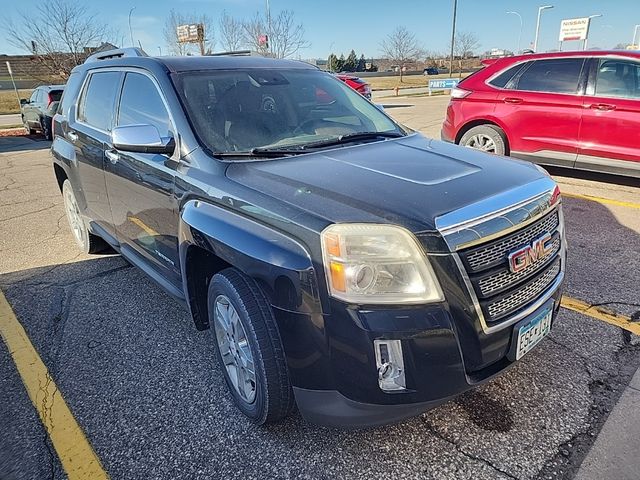
<svg viewBox="0 0 640 480"><path fill-rule="evenodd" d="M16 22L5 20L3 27L9 43L33 53L44 70L63 79L115 36L89 8L69 0L43 2L18 13Z"/></svg>

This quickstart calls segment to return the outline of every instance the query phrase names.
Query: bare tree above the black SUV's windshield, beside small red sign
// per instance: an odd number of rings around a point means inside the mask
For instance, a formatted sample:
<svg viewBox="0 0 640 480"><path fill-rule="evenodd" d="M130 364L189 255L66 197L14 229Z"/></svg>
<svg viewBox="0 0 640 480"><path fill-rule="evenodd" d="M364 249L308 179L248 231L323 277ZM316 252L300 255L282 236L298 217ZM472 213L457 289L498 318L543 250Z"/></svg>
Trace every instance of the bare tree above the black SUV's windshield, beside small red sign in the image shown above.
<svg viewBox="0 0 640 480"><path fill-rule="evenodd" d="M291 10L282 10L271 21L266 21L259 13L244 22L244 43L263 55L288 58L311 44L304 38L304 27L296 23ZM260 38L267 35L269 47Z"/></svg>

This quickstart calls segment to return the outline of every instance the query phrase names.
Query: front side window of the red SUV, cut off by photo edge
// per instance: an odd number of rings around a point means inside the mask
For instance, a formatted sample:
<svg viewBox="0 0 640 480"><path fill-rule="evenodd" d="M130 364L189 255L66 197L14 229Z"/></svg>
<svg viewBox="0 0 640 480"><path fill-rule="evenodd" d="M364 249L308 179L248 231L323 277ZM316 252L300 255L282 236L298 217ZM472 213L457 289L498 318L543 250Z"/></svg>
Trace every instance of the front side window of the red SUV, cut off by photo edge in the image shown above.
<svg viewBox="0 0 640 480"><path fill-rule="evenodd" d="M596 77L596 95L640 99L640 63L601 59Z"/></svg>

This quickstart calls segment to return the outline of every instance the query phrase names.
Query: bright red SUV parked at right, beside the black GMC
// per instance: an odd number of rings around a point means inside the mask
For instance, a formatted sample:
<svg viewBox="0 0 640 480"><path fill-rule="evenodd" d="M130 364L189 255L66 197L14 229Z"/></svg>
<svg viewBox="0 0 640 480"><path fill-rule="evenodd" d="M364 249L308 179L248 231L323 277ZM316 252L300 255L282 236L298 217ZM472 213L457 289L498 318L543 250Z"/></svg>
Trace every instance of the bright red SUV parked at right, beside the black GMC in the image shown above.
<svg viewBox="0 0 640 480"><path fill-rule="evenodd" d="M486 61L451 92L442 139L500 155L640 177L640 53Z"/></svg>

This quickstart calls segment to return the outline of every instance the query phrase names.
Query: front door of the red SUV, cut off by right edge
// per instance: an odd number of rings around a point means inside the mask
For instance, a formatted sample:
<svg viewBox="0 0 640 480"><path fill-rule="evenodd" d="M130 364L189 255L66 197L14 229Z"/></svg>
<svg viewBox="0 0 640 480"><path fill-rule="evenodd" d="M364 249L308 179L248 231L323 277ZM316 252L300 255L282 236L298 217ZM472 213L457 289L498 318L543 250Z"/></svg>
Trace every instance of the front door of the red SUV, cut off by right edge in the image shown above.
<svg viewBox="0 0 640 480"><path fill-rule="evenodd" d="M576 167L594 166L640 170L640 61L592 60Z"/></svg>

